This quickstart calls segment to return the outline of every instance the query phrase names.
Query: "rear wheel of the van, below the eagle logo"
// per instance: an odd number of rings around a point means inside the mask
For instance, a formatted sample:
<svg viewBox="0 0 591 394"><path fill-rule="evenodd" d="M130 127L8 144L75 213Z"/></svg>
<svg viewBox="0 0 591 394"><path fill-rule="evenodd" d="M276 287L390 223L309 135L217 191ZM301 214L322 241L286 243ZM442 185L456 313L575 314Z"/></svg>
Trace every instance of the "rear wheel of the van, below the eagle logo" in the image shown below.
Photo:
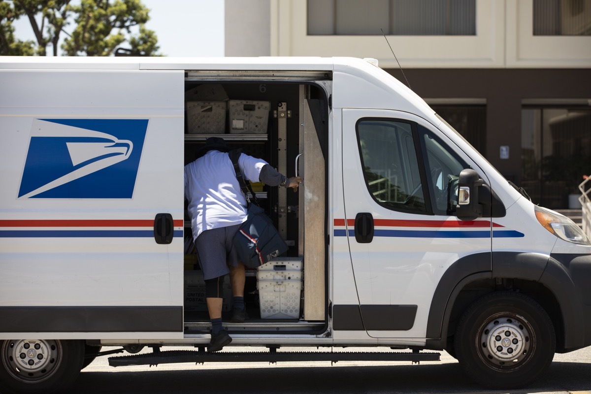
<svg viewBox="0 0 591 394"><path fill-rule="evenodd" d="M54 393L68 388L82 369L84 342L0 341L2 393Z"/></svg>

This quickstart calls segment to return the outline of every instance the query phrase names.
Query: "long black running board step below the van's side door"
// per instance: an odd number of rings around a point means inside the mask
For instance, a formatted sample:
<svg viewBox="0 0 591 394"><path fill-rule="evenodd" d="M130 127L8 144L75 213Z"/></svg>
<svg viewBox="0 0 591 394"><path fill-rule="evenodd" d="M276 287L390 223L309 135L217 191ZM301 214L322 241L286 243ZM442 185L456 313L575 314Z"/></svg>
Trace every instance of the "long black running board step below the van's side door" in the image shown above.
<svg viewBox="0 0 591 394"><path fill-rule="evenodd" d="M168 350L155 353L131 354L130 356L109 357L112 367L128 365L158 365L172 363L205 363L205 362L293 362L293 361L439 361L439 353L414 352L352 352L352 351L245 351L216 352L195 350Z"/></svg>

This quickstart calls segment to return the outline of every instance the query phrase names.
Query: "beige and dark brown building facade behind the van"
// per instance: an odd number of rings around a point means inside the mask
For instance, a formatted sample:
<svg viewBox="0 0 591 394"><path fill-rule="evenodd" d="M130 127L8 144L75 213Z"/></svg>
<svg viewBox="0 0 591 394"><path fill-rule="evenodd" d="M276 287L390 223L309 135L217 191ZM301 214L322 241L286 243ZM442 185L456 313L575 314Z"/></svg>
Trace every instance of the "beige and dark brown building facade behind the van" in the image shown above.
<svg viewBox="0 0 591 394"><path fill-rule="evenodd" d="M378 59L535 203L568 208L591 174L591 0L226 0L225 14L226 56Z"/></svg>

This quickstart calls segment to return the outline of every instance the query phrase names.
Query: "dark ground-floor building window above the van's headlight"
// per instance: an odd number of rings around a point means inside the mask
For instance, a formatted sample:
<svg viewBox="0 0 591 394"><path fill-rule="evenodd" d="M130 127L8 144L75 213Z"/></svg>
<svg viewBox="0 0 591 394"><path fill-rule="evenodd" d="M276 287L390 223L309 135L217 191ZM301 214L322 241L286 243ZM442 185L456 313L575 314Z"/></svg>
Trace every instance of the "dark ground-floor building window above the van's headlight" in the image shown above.
<svg viewBox="0 0 591 394"><path fill-rule="evenodd" d="M591 109L525 106L521 147L521 185L532 201L567 208L583 174L591 174Z"/></svg>

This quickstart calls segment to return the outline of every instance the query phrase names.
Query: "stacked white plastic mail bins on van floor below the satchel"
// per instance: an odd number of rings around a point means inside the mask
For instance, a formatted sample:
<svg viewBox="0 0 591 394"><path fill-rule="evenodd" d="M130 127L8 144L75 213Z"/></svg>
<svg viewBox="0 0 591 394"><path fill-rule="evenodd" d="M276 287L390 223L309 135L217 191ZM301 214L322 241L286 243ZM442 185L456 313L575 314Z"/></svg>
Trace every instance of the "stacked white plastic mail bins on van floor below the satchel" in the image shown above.
<svg viewBox="0 0 591 394"><path fill-rule="evenodd" d="M301 258L280 258L256 272L261 318L299 318L302 284Z"/></svg>

